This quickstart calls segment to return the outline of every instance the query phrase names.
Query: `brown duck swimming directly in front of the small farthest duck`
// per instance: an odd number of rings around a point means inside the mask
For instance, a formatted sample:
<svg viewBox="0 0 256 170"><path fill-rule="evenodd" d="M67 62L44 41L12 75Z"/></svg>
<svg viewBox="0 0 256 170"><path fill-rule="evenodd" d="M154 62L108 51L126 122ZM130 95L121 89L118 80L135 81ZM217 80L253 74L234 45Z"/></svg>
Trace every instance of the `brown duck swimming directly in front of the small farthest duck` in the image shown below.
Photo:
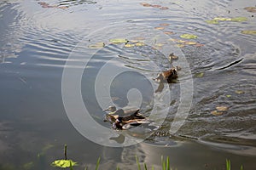
<svg viewBox="0 0 256 170"><path fill-rule="evenodd" d="M168 71L162 71L160 74L157 75L156 78L154 78L157 82L173 82L175 79L177 79L177 68L173 67L169 69Z"/></svg>

